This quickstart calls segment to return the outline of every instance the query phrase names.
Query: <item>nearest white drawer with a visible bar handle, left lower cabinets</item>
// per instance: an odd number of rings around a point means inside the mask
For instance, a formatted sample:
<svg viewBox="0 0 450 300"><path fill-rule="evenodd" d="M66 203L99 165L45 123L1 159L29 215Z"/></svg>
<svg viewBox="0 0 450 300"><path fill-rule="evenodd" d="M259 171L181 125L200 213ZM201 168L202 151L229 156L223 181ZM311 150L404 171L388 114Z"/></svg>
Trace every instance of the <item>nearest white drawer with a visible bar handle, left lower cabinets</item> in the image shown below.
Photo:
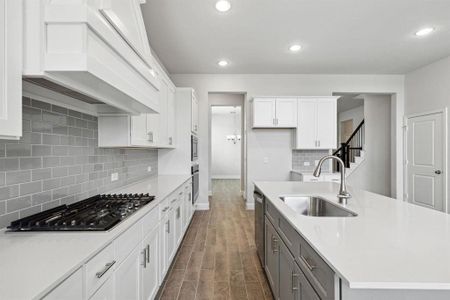
<svg viewBox="0 0 450 300"><path fill-rule="evenodd" d="M113 274L115 263L113 244L106 246L86 263L86 294L88 298Z"/></svg>

